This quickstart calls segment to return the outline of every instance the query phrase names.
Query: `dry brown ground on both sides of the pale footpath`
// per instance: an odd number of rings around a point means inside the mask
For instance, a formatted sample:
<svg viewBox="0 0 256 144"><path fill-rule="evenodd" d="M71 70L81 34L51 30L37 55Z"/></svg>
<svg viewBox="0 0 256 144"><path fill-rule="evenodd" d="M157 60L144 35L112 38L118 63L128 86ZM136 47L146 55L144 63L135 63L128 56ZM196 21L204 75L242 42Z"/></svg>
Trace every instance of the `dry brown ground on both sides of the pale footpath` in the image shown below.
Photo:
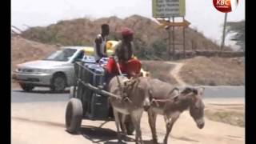
<svg viewBox="0 0 256 144"><path fill-rule="evenodd" d="M175 65L163 61L142 61L144 70L150 71L152 78L158 78L172 85L178 84L171 70ZM206 58L202 56L179 60L182 63L179 78L192 86L244 86L245 63L243 58Z"/></svg>

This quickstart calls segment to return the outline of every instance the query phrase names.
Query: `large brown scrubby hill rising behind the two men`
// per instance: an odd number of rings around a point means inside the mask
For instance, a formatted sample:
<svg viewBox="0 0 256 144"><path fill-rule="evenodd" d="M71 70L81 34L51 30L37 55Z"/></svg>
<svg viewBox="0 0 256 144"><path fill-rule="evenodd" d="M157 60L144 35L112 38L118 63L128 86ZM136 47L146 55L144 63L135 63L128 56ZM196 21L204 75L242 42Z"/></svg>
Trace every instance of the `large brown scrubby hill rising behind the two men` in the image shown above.
<svg viewBox="0 0 256 144"><path fill-rule="evenodd" d="M48 44L61 44L63 46L93 46L94 37L100 32L102 23L110 25L109 39L120 39L122 26L128 26L135 31L135 53L142 59L166 59L166 47L168 47L168 34L165 29L159 28L158 23L150 18L133 15L128 18L99 18L90 20L78 18L74 20L60 21L46 27L32 27L22 33L23 38ZM182 42L182 29L175 30L177 43ZM175 46L181 50L182 46ZM186 50L219 50L219 46L206 38L197 30L186 29ZM230 50L226 47L225 50Z"/></svg>

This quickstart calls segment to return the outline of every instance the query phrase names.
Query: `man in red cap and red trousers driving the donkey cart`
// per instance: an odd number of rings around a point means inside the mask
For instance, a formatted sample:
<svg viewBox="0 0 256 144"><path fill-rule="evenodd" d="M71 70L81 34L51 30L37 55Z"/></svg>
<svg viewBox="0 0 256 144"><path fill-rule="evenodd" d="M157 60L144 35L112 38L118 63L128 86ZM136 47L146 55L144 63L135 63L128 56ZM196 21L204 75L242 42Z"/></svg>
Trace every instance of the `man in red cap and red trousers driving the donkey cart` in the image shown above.
<svg viewBox="0 0 256 144"><path fill-rule="evenodd" d="M134 58L134 31L125 27L122 29L122 41L114 47L114 58L110 58L106 64L106 82L118 75L118 65L122 74L128 78L137 76L140 73L142 64ZM117 65L118 63L118 65Z"/></svg>

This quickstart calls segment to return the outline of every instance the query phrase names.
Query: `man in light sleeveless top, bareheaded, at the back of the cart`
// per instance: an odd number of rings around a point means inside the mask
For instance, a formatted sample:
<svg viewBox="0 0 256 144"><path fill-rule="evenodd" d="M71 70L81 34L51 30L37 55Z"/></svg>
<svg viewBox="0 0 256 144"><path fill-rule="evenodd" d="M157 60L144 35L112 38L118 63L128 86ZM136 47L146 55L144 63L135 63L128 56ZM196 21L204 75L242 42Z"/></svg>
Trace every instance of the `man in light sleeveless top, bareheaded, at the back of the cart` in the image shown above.
<svg viewBox="0 0 256 144"><path fill-rule="evenodd" d="M94 41L94 58L98 63L106 54L106 36L110 34L110 27L108 24L102 24L102 34L98 34Z"/></svg>

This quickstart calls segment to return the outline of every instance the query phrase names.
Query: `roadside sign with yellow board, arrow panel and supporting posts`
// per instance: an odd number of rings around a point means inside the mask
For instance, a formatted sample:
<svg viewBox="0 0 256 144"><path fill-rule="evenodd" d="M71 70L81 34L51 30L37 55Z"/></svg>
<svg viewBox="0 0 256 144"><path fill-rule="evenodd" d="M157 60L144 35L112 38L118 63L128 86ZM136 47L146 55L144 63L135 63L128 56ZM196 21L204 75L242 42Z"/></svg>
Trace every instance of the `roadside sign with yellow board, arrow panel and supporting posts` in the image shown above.
<svg viewBox="0 0 256 144"><path fill-rule="evenodd" d="M152 0L152 13L153 17L160 23L160 27L168 27L167 30L170 30L170 26L172 27L172 45L173 45L173 58L175 54L175 45L178 43L174 42L174 26L182 26L183 27L183 52L185 58L185 28L190 25L190 22L187 22L185 17L186 14L186 5L185 0ZM182 18L182 22L174 22L174 18ZM172 18L172 22L170 22L170 18ZM169 33L170 40L170 33ZM171 44L170 44L171 45ZM170 58L170 50L169 58Z"/></svg>

